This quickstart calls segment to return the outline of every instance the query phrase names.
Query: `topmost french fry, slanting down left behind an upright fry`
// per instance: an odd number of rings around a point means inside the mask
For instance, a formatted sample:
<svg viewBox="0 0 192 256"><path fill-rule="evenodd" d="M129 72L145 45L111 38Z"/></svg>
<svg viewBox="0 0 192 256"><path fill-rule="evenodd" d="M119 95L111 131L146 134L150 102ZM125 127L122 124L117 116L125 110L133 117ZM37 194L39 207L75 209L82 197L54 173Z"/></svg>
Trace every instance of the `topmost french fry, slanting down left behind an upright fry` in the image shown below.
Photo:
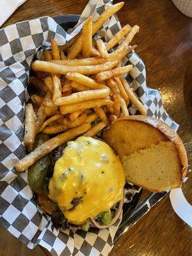
<svg viewBox="0 0 192 256"><path fill-rule="evenodd" d="M124 5L124 2L114 4L113 6L110 6L107 10L105 10L100 16L99 19L93 23L92 26L92 36L97 33L99 28L108 20L113 14L118 12L120 8ZM76 56L81 52L83 46L83 37L79 36L79 38L76 40L76 42L72 45L71 51L68 53L67 58L72 60L76 58Z"/></svg>

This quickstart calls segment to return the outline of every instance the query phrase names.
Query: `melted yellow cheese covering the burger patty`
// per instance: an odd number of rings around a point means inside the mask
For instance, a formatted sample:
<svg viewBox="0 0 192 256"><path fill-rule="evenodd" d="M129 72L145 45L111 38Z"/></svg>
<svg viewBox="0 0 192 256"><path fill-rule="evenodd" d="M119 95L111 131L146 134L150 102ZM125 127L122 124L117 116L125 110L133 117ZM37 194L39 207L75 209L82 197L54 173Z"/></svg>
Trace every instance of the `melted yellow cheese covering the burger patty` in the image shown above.
<svg viewBox="0 0 192 256"><path fill-rule="evenodd" d="M56 161L49 198L68 221L82 223L120 201L124 184L122 163L109 145L82 136L69 141ZM79 197L80 203L73 207L72 200Z"/></svg>

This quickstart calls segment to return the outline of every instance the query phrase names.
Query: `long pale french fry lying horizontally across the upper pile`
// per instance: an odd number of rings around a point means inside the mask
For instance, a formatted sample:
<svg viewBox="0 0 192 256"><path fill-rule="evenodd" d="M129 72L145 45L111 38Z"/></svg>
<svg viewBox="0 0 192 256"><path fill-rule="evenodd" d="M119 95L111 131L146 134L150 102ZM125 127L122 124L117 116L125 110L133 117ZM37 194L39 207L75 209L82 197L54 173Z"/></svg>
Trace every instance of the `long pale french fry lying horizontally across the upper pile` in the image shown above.
<svg viewBox="0 0 192 256"><path fill-rule="evenodd" d="M32 64L32 69L34 71L44 71L48 73L66 75L68 72L77 72L84 75L98 74L101 71L110 70L115 67L119 61L106 62L99 65L90 66L65 66L58 65L51 62L36 60Z"/></svg>

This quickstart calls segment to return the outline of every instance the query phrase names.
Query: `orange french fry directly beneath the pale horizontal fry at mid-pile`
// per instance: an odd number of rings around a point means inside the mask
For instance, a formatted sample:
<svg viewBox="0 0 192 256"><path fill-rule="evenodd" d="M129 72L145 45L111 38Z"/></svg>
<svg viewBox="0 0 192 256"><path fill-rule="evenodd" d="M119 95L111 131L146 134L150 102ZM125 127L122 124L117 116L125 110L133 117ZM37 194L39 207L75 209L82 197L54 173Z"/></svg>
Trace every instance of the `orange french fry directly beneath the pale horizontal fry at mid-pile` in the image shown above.
<svg viewBox="0 0 192 256"><path fill-rule="evenodd" d="M77 110L84 110L89 108L97 108L100 106L113 105L113 102L108 99L93 99L86 100L84 102L74 103L71 105L60 106L60 113L65 115L68 113L72 113Z"/></svg>

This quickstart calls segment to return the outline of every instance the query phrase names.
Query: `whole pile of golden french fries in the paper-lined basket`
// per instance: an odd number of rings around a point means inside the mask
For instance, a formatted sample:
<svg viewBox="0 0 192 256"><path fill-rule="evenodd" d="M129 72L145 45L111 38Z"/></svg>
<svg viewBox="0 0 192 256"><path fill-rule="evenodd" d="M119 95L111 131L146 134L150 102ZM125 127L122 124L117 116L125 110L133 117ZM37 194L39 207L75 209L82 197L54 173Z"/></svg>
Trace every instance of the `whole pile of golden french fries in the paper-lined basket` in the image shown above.
<svg viewBox="0 0 192 256"><path fill-rule="evenodd" d="M128 116L129 100L142 115L147 115L123 76L132 65L121 67L122 58L136 48L129 44L139 27L127 24L107 44L100 38L93 39L102 24L123 5L109 7L96 22L89 17L82 31L65 45L58 46L52 38L51 51L45 50L41 59L33 62L36 76L30 77L29 82L38 93L32 97L34 104L26 105L24 120L24 145L30 153L16 164L17 171L26 170L79 135L95 136L117 118ZM109 53L117 44L115 51ZM98 118L100 121L92 127ZM57 135L33 150L39 132Z"/></svg>

